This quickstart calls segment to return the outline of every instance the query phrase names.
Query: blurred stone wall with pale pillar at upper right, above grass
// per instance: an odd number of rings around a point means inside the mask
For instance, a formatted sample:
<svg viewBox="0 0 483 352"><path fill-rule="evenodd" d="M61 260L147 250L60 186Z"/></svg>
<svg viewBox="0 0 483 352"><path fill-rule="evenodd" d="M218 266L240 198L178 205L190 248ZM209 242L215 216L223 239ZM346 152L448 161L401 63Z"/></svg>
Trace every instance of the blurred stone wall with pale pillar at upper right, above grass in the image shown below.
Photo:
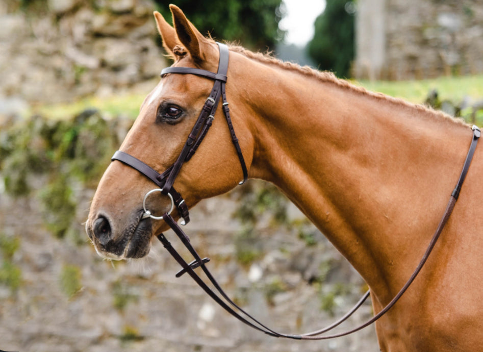
<svg viewBox="0 0 483 352"><path fill-rule="evenodd" d="M355 77L403 80L483 73L483 3L361 0L358 6Z"/></svg>

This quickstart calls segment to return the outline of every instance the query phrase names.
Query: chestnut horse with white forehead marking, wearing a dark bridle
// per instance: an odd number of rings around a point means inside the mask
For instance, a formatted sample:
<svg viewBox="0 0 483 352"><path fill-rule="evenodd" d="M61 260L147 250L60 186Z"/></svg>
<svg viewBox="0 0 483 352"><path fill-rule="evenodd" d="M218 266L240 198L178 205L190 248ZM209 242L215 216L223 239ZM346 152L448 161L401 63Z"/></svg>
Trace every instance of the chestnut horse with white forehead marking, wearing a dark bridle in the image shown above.
<svg viewBox="0 0 483 352"><path fill-rule="evenodd" d="M157 12L173 67L216 72L219 51L183 12L174 28ZM250 178L278 186L340 250L385 307L423 256L471 141L465 123L336 79L230 47L226 95ZM166 170L176 160L213 81L167 74L145 98L120 150ZM243 179L221 109L174 182L189 208ZM100 180L86 230L99 255L139 258L167 224L144 218L153 184L114 161ZM476 351L483 342L483 151L473 163L433 253L375 325L384 351ZM149 197L162 214L171 201ZM156 202L155 202L156 201ZM173 216L176 212L173 212Z"/></svg>

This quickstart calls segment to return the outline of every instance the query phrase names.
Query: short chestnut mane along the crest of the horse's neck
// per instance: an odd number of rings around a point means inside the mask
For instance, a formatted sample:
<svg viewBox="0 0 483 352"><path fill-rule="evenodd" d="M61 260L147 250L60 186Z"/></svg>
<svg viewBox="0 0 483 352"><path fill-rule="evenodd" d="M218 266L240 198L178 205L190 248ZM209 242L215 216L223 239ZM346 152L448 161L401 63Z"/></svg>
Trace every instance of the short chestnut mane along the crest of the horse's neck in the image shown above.
<svg viewBox="0 0 483 352"><path fill-rule="evenodd" d="M336 85L336 86L338 86L342 89L348 89L348 90L351 90L353 92L357 92L357 93L360 93L360 94L363 94L363 95L367 95L367 96L373 97L373 98L378 99L378 100L385 100L386 102L389 102L389 103L392 103L392 104L395 104L395 105L398 105L398 106L405 106L405 107L408 107L408 108L413 108L413 109L418 110L421 113L424 113L426 115L430 115L430 116L433 116L433 117L437 117L439 119L443 118L445 120L449 120L449 121L452 121L452 122L456 122L458 124L463 124L465 126L469 126L469 124L462 118L452 117L452 116L450 116L450 115L448 115L448 114L446 114L442 111L434 110L433 108L430 108L428 106L421 105L421 104L409 103L409 102L406 102L405 100L403 100L401 98L395 98L395 97L392 97L392 96L389 96L389 95L386 95L386 94L383 94L383 93L372 92L370 90L367 90L364 87L355 86L355 85L353 85L352 83L350 83L346 80L341 80L341 79L337 78L333 72L319 71L319 70L316 70L316 69L314 69L310 66L300 66L300 65L293 63L293 62L282 61L282 60L275 58L272 55L271 52L267 52L265 54L263 54L263 53L253 53L253 52L249 51L248 49L245 49L244 47L236 45L236 44L229 44L229 46L230 46L230 49L233 52L241 54L241 55L243 55L243 56L245 56L245 57L247 57L251 60L255 60L255 61L258 61L258 62L264 63L264 64L275 65L275 66L278 66L278 67L285 69L285 70L296 71L296 72L299 72L300 74L302 74L303 76L315 78L315 79L317 79L321 82L334 84L334 85Z"/></svg>

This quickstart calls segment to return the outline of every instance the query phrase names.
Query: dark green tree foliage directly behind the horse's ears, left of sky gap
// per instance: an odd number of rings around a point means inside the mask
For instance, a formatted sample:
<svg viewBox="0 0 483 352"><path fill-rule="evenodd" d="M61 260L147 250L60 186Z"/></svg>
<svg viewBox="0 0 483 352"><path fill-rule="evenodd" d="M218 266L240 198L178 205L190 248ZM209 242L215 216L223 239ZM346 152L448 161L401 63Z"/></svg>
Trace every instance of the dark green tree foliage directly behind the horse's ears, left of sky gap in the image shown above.
<svg viewBox="0 0 483 352"><path fill-rule="evenodd" d="M172 1L155 1L164 18L171 21L168 5ZM176 0L175 4L201 33L210 33L217 40L264 50L285 34L278 29L282 0Z"/></svg>

